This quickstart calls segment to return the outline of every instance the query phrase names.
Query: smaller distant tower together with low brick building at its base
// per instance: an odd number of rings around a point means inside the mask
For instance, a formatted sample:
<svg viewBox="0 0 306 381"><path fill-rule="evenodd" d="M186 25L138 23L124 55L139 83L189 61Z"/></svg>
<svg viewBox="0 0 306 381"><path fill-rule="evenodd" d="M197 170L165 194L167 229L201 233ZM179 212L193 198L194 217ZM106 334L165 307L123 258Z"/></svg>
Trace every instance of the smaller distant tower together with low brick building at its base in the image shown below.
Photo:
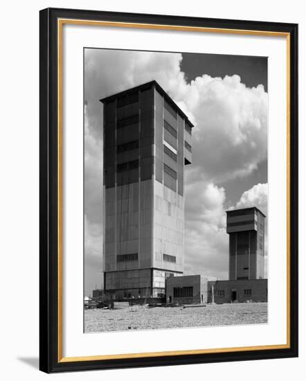
<svg viewBox="0 0 306 381"><path fill-rule="evenodd" d="M210 281L208 303L267 301L264 279L264 213L255 206L226 212L228 281Z"/></svg>

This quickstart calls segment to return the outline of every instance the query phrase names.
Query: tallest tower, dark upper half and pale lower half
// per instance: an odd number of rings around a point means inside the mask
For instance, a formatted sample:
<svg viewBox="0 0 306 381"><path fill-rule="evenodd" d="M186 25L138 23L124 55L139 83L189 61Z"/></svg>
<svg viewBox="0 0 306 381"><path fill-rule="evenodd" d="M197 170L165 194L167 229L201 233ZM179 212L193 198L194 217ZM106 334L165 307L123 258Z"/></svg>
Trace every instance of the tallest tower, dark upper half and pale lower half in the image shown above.
<svg viewBox="0 0 306 381"><path fill-rule="evenodd" d="M104 104L104 287L159 296L183 272L184 165L192 123L155 81Z"/></svg>

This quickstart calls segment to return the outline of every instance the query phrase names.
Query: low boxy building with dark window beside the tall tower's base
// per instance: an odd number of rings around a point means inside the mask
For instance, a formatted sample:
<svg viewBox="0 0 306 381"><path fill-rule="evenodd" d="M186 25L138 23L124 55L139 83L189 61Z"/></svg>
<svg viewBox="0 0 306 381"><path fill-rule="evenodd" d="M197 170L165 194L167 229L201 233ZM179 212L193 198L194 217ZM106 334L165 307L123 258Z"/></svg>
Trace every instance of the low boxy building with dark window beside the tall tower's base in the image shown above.
<svg viewBox="0 0 306 381"><path fill-rule="evenodd" d="M165 282L168 303L205 303L207 281L201 275L169 276Z"/></svg>

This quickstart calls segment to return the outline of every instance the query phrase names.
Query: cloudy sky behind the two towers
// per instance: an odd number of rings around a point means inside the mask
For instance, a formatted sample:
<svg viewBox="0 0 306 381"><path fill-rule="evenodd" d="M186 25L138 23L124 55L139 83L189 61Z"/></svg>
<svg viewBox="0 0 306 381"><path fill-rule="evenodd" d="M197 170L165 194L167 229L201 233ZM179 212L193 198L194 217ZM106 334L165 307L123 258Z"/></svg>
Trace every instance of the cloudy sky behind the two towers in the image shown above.
<svg viewBox="0 0 306 381"><path fill-rule="evenodd" d="M150 80L159 82L195 124L192 164L185 167L184 274L227 279L225 211L257 206L267 215L267 57L84 49L87 295L102 283L99 99Z"/></svg>

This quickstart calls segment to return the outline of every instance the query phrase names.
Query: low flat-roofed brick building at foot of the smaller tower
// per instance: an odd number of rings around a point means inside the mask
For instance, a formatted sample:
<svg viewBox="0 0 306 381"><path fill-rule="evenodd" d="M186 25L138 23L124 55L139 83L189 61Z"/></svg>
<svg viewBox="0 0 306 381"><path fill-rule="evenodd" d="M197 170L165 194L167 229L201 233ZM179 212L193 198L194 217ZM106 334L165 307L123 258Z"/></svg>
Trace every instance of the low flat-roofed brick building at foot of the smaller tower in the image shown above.
<svg viewBox="0 0 306 381"><path fill-rule="evenodd" d="M208 303L267 302L267 279L208 281Z"/></svg>

